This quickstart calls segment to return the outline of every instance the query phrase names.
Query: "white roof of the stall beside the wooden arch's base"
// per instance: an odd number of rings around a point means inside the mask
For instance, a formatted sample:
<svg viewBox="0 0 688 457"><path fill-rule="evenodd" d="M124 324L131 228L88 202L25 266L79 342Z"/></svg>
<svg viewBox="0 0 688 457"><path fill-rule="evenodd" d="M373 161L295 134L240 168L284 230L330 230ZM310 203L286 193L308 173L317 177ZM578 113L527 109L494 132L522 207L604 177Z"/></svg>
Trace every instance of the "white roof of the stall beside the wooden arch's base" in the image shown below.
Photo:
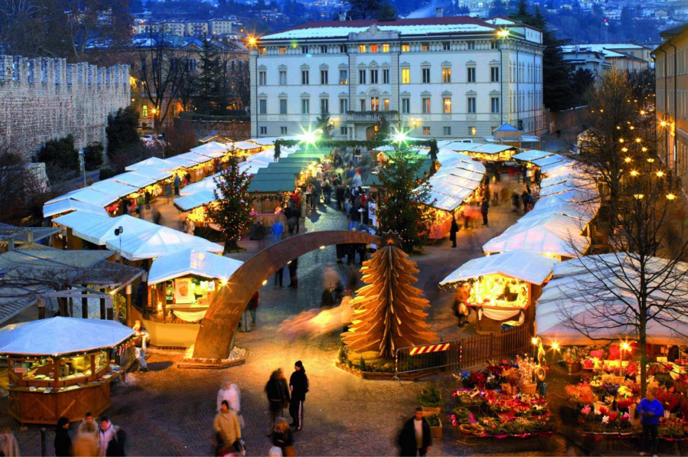
<svg viewBox="0 0 688 457"><path fill-rule="evenodd" d="M153 260L148 284L196 275L226 281L244 262L195 249L184 249Z"/></svg>

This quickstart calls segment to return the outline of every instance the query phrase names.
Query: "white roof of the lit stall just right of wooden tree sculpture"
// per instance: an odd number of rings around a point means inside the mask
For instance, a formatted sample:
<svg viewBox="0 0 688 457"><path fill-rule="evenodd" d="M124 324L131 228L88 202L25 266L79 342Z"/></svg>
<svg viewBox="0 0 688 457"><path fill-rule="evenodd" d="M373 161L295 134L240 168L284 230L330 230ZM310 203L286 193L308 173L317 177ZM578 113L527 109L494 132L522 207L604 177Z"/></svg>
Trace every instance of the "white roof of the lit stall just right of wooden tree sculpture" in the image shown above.
<svg viewBox="0 0 688 457"><path fill-rule="evenodd" d="M533 251L509 251L469 260L440 281L440 286L485 275L504 275L541 286L552 274L555 259Z"/></svg>

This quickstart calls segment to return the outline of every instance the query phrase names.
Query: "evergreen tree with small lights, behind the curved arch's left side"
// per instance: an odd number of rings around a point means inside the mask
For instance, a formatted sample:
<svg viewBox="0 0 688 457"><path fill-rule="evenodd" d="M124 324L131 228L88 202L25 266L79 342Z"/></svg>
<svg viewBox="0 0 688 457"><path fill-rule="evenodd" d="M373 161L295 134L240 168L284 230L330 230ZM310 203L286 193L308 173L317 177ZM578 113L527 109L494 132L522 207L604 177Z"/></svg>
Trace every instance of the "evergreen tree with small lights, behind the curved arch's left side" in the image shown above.
<svg viewBox="0 0 688 457"><path fill-rule="evenodd" d="M251 194L248 187L251 177L239 170L239 160L230 157L228 167L214 179L217 189L215 202L206 204L206 213L225 236L224 252L239 248L239 238L248 230L251 222Z"/></svg>

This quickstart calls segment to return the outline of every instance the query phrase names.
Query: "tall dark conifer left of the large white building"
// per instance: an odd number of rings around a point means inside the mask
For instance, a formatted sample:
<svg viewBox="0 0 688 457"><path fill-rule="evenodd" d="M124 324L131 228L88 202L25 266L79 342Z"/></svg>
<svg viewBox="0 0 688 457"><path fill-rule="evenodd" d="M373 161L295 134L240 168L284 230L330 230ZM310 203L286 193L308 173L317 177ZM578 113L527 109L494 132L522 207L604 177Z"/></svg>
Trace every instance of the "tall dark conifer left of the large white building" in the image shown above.
<svg viewBox="0 0 688 457"><path fill-rule="evenodd" d="M200 73L196 78L193 105L204 114L222 114L226 107L224 62L210 40L203 41Z"/></svg>

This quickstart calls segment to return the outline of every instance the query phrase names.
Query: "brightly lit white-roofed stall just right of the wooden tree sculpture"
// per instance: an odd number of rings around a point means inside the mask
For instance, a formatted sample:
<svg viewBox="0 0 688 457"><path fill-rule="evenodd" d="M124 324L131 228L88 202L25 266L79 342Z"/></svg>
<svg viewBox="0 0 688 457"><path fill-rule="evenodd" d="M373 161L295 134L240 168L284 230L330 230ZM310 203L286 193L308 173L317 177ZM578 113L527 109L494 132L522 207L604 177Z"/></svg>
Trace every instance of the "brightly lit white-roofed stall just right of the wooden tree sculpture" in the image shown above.
<svg viewBox="0 0 688 457"><path fill-rule="evenodd" d="M531 251L479 257L440 281L440 287L462 289L464 303L477 312L479 334L495 333L502 325L533 323L535 300L552 275L555 259Z"/></svg>

